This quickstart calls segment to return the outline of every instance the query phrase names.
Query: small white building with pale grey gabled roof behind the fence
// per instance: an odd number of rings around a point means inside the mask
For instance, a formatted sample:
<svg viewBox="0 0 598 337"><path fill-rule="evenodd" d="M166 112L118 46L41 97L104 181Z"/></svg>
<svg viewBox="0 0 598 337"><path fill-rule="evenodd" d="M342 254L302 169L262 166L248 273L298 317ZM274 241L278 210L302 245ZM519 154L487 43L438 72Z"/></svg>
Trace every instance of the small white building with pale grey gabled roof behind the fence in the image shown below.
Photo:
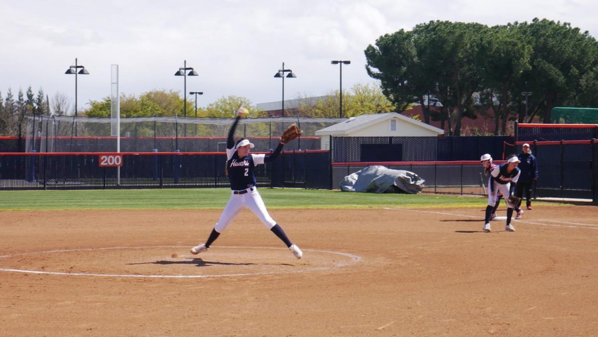
<svg viewBox="0 0 598 337"><path fill-rule="evenodd" d="M315 132L321 137L321 149L330 149L330 137L398 137L444 135L438 129L399 113L367 114L325 127Z"/></svg>

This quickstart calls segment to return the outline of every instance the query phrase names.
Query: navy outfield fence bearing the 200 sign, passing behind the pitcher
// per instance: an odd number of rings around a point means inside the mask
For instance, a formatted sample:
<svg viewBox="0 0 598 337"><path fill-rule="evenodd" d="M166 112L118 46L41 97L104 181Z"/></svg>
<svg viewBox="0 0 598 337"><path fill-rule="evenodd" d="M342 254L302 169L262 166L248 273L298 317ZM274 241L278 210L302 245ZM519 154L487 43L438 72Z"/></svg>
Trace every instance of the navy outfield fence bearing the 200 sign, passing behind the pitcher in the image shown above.
<svg viewBox="0 0 598 337"><path fill-rule="evenodd" d="M225 162L220 152L0 153L0 189L228 187ZM256 167L257 184L328 189L328 162L328 151L283 151Z"/></svg>

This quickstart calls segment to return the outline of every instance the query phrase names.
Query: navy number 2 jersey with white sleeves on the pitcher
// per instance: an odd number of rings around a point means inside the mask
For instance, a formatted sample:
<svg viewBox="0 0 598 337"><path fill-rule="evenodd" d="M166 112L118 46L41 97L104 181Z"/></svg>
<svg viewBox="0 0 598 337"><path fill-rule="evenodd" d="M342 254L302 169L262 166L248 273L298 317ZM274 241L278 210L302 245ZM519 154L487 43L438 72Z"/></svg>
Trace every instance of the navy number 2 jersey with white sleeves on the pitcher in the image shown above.
<svg viewBox="0 0 598 337"><path fill-rule="evenodd" d="M228 149L228 181L231 190L245 190L255 186L255 166L264 163L266 154L249 154L245 158L239 158L234 149Z"/></svg>

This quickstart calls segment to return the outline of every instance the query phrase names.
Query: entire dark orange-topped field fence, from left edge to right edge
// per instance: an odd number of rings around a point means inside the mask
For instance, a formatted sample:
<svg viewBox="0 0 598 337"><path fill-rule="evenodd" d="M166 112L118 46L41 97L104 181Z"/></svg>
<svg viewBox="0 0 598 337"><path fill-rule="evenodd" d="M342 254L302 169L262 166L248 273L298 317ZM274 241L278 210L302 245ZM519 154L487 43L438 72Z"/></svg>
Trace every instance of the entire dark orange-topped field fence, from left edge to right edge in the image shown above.
<svg viewBox="0 0 598 337"><path fill-rule="evenodd" d="M597 142L530 142L540 174L533 195L598 202ZM522 144L512 144L513 153ZM102 156L117 155L121 166L100 166ZM225 159L223 152L0 153L0 189L228 187ZM256 175L261 187L339 189L344 177L371 165L416 173L426 181L424 192L486 194L478 160L332 162L327 150L283 151L274 162L257 166Z"/></svg>

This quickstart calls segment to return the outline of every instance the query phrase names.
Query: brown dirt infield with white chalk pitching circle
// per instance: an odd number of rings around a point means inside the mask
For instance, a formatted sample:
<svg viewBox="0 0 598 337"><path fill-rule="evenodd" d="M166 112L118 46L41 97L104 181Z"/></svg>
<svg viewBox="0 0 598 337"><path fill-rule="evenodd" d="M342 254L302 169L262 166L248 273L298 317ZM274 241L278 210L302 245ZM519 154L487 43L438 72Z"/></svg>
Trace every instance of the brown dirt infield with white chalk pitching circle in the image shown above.
<svg viewBox="0 0 598 337"><path fill-rule="evenodd" d="M198 256L219 210L3 211L0 335L598 335L598 208L483 207L272 210L301 260L249 211Z"/></svg>

